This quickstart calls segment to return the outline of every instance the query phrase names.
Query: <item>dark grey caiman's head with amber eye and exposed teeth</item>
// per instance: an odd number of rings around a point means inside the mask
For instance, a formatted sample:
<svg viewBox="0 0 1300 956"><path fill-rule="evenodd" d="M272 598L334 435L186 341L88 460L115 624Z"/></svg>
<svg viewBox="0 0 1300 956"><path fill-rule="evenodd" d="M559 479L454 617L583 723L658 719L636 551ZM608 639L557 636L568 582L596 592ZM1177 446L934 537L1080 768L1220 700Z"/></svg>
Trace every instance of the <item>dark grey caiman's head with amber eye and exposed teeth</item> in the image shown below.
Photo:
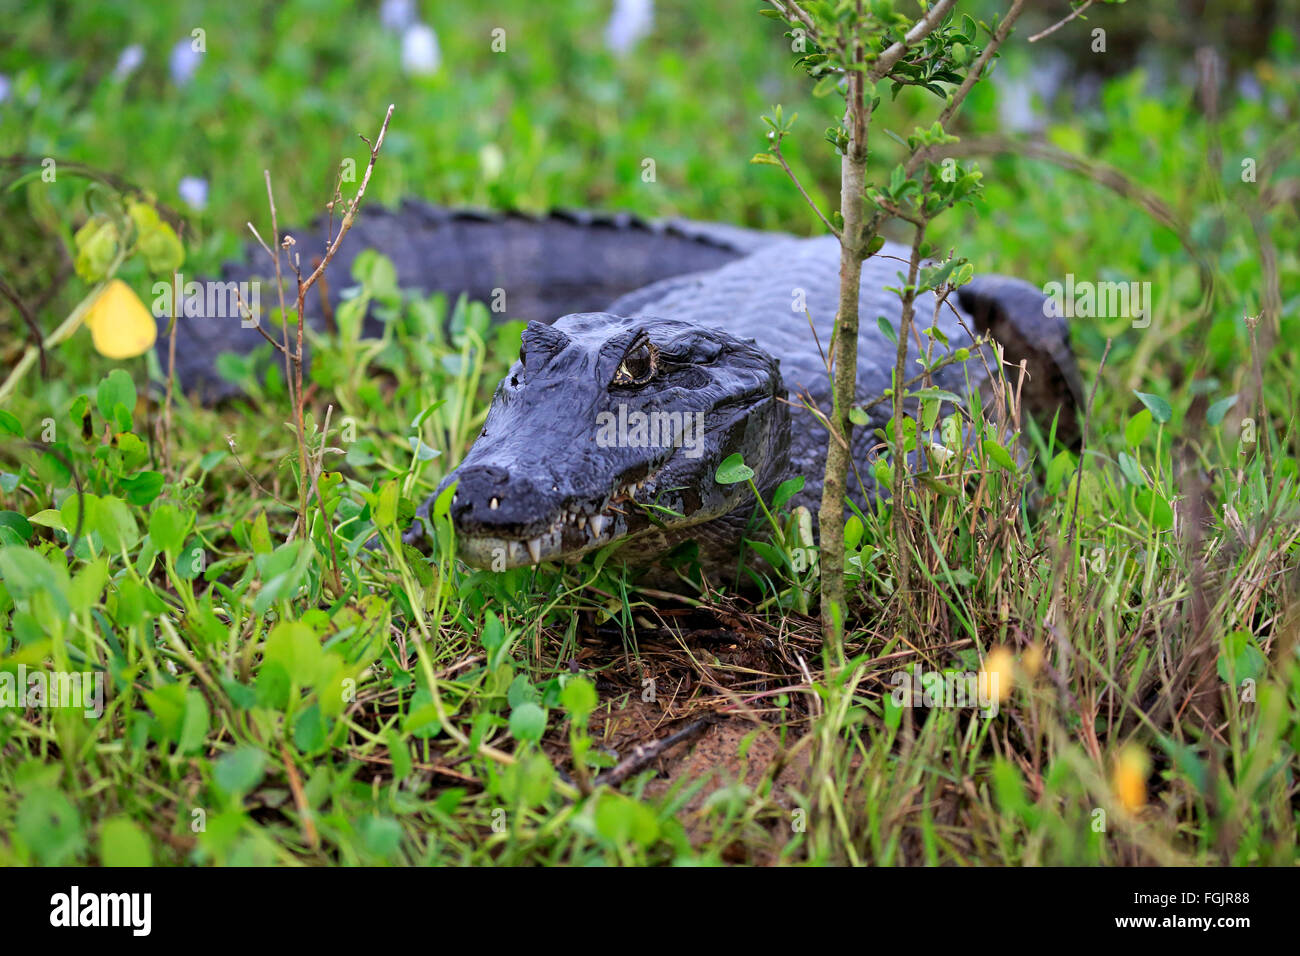
<svg viewBox="0 0 1300 956"><path fill-rule="evenodd" d="M741 453L755 484L784 475L789 408L779 363L753 341L668 319L569 315L529 323L460 467L460 557L503 570L576 558L728 514L751 497L715 481Z"/></svg>

